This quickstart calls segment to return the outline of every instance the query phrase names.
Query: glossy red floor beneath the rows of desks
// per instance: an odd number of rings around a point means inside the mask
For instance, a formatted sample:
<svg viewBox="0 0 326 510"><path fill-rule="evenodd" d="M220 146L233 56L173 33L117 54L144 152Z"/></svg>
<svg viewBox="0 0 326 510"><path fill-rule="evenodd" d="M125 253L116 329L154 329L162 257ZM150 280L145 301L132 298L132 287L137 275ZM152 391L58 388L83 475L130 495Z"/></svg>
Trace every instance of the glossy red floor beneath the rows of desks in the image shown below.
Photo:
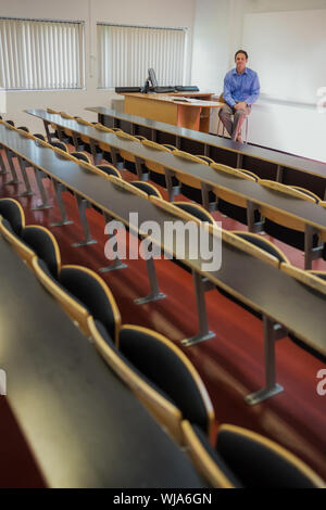
<svg viewBox="0 0 326 510"><path fill-rule="evenodd" d="M32 174L29 174L32 175ZM128 173L124 178L135 180ZM33 178L32 178L33 179ZM1 177L0 196L16 194L14 186L3 186ZM58 208L48 182L47 190L53 207L32 212L39 203L38 196L20 199L26 224L49 226L59 219ZM92 235L98 244L74 248L73 242L82 240L82 228L77 219L77 207L70 193L64 194L67 213L74 225L52 228L62 254L63 264L80 264L98 270L108 265L104 258L104 221L95 211L88 211ZM226 229L244 227L228 218L221 218ZM303 254L275 241L288 255L291 263L303 268ZM326 263L315 260L314 269L326 270ZM156 260L156 272L161 290L167 298L146 306L137 306L134 298L148 293L148 278L143 260L128 262L128 269L102 275L118 304L123 323L135 323L152 328L176 344L184 337L197 333L197 314L191 276L168 260ZM187 298L185 298L187 296ZM212 398L216 421L235 423L260 432L286 446L305 460L326 480L326 396L316 393L316 374L326 365L300 349L289 340L276 344L277 381L285 392L258 406L249 407L243 397L264 383L264 353L262 322L241 307L233 304L217 291L206 294L210 329L216 336L192 347L184 348L200 372ZM301 310L298 310L300 314ZM303 313L303 306L302 306ZM12 433L14 442L14 432ZM2 439L0 434L0 455ZM14 449L13 449L14 455ZM20 466L28 469L27 463ZM7 473L11 484L22 483L22 473ZM0 476L1 480L2 476ZM29 479L28 479L29 480ZM26 481L27 483L28 481ZM28 482L29 483L29 482ZM27 485L28 485L27 483ZM41 485L35 477L32 485ZM9 485L7 485L9 486Z"/></svg>

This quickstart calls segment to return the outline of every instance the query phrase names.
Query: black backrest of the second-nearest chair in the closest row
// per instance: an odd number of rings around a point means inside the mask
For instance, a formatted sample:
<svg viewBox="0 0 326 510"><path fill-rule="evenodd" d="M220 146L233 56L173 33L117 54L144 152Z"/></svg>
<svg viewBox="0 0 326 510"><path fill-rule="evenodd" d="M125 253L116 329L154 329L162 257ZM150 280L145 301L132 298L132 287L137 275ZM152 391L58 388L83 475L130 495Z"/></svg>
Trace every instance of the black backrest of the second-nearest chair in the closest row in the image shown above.
<svg viewBox="0 0 326 510"><path fill-rule="evenodd" d="M168 395L191 423L208 430L206 409L188 368L177 354L142 331L123 329L120 349L153 384Z"/></svg>

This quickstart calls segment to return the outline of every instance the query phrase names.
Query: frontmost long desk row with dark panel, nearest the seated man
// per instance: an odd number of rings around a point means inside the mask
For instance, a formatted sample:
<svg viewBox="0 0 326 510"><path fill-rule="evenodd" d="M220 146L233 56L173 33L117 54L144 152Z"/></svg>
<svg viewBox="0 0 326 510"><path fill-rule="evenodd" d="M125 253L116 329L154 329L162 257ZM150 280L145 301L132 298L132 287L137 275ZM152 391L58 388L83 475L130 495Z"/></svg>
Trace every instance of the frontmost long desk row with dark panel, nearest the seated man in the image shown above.
<svg viewBox="0 0 326 510"><path fill-rule="evenodd" d="M99 122L108 127L117 127L131 135L142 135L159 143L172 143L181 151L205 154L225 165L254 171L262 179L302 186L321 197L325 196L326 163L234 142L103 106L86 110L97 113Z"/></svg>

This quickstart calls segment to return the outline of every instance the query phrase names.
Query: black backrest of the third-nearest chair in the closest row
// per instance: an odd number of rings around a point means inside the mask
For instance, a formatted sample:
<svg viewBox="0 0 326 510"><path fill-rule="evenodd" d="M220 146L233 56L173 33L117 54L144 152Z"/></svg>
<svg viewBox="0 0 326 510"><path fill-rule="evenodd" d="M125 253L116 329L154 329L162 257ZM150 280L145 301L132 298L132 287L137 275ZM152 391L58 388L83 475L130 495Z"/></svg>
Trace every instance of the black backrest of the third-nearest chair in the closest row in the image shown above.
<svg viewBox="0 0 326 510"><path fill-rule="evenodd" d="M111 303L98 280L83 269L63 267L59 281L85 305L96 320L103 323L114 339L115 323Z"/></svg>

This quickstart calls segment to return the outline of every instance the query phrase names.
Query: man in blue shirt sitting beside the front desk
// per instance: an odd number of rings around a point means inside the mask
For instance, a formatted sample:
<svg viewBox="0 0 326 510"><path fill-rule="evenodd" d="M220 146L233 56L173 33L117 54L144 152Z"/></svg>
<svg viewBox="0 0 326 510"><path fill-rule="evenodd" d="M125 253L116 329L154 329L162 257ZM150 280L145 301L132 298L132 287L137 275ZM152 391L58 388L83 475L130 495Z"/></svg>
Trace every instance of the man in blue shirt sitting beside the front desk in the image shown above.
<svg viewBox="0 0 326 510"><path fill-rule="evenodd" d="M246 67L247 51L239 50L235 54L236 68L229 71L224 78L223 99L225 105L220 110L220 118L233 140L242 142L241 126L251 105L260 94L258 74ZM234 115L234 122L231 120Z"/></svg>

